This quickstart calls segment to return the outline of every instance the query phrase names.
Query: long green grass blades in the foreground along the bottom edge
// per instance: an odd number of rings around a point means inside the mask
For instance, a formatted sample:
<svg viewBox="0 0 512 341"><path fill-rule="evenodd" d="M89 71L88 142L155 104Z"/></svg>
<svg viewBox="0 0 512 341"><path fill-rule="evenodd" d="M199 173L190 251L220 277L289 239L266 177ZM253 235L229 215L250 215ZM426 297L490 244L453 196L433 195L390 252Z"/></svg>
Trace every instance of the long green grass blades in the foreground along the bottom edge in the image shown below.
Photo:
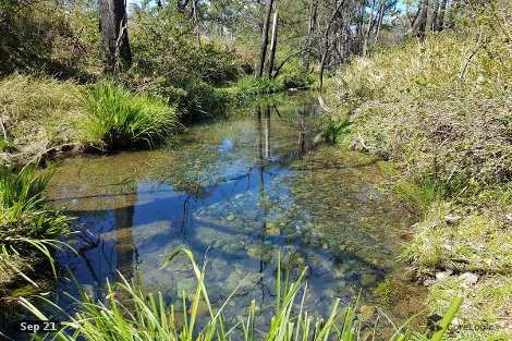
<svg viewBox="0 0 512 341"><path fill-rule="evenodd" d="M277 297L273 306L275 314L266 330L264 326L256 325L256 304L253 301L246 318L234 326L228 326L223 309L236 293L243 281L231 293L227 301L218 309L214 309L205 287L205 267L199 267L188 249L175 252L162 266L169 265L179 254L184 253L191 260L193 271L197 280L194 299L190 306L183 302L183 327L176 324L174 306L168 306L161 292L148 293L142 281L135 284L129 283L122 276L122 281L111 285L107 284L108 294L106 302L94 302L81 291L81 299L73 299L77 307L74 316L60 308L51 301L41 297L46 304L65 316L63 328L54 334L37 336L34 340L61 340L70 341L84 338L88 341L109 340L266 340L266 341L307 341L307 340L361 340L361 322L355 306L340 308L340 301L333 303L332 310L326 318L314 318L306 312L304 300L307 283L304 281L306 269L292 282L290 268L282 269L281 259L277 270ZM284 276L282 276L284 273ZM129 296L129 301L119 297ZM198 326L197 312L199 302L206 303L208 308L208 321L205 326ZM458 297L449 308L439 331L432 340L440 340L450 321L456 313L462 297ZM47 316L33 303L21 299L24 307L45 320ZM413 340L420 336L405 331L406 326L397 329L390 341Z"/></svg>

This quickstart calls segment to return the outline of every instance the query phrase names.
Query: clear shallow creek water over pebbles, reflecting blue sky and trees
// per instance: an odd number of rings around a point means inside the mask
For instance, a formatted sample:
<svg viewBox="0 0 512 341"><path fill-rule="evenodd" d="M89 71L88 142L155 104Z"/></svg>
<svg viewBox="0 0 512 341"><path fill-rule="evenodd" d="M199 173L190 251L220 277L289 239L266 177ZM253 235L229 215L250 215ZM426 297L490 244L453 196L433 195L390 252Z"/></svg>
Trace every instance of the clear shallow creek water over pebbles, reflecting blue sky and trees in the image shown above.
<svg viewBox="0 0 512 341"><path fill-rule="evenodd" d="M328 146L312 150L314 106L277 109L191 127L180 144L158 150L64 160L49 195L77 217L82 232L71 242L82 257L60 254L59 263L96 297L106 278L117 280L119 270L133 279L138 268L149 289L180 306L182 292L190 299L195 288L187 259L159 268L188 247L197 260L208 256L214 306L249 275L225 308L234 317L252 300L275 302L280 252L293 273L309 267L312 313L329 312L336 297L353 302L359 290L364 304L378 304L378 283L403 272L397 255L412 212L379 190L382 162ZM59 290L76 292L65 279Z"/></svg>

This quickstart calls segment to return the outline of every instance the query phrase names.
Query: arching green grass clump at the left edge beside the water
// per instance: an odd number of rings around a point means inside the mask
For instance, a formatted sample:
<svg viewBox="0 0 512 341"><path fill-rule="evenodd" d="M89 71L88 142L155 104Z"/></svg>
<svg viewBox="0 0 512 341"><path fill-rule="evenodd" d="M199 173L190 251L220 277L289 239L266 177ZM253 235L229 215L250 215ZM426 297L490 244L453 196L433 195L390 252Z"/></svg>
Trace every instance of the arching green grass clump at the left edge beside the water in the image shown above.
<svg viewBox="0 0 512 341"><path fill-rule="evenodd" d="M52 172L40 175L37 168L0 168L0 282L21 276L37 287L25 269L41 258L57 276L51 251L63 245L56 238L69 233L68 218L47 209L44 191Z"/></svg>

